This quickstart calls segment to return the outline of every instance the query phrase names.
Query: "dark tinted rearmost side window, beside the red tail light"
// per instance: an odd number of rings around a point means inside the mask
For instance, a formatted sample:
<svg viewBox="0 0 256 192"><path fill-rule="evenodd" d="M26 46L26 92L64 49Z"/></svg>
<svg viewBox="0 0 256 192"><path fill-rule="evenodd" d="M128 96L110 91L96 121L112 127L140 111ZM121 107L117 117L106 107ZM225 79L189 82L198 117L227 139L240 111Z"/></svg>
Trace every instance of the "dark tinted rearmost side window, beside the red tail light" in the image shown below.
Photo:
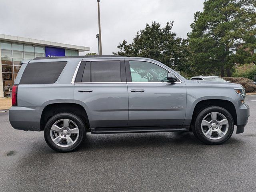
<svg viewBox="0 0 256 192"><path fill-rule="evenodd" d="M66 61L28 63L20 79L20 84L55 83L66 64Z"/></svg>

